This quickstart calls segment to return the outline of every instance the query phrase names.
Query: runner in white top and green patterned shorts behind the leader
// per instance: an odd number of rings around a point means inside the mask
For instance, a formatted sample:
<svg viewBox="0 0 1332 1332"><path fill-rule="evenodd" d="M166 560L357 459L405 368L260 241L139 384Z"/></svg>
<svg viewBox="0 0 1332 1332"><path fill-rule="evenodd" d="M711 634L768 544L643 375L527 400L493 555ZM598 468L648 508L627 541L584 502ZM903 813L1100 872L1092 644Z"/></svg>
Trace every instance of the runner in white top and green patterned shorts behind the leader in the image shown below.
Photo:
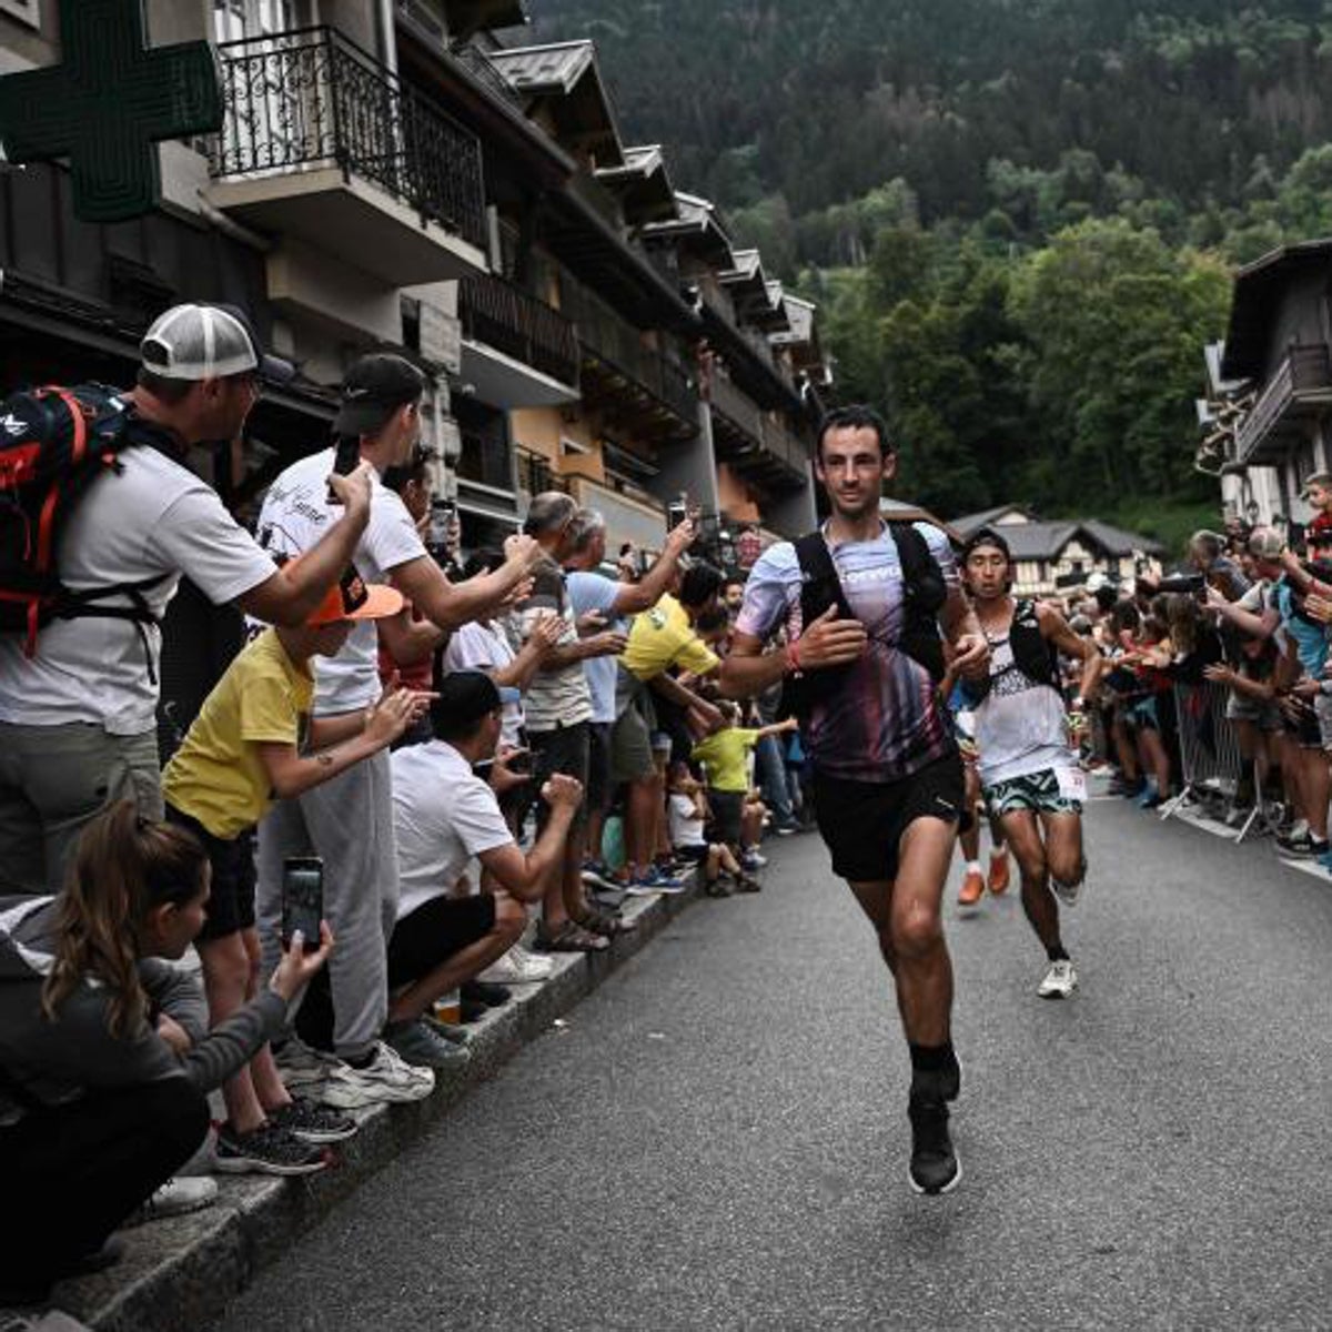
<svg viewBox="0 0 1332 1332"><path fill-rule="evenodd" d="M1056 651L1083 663L1075 717L1095 694L1100 657L1054 607L1014 599L1012 555L992 527L975 533L962 558L990 643L990 677L975 706L980 785L1018 859L1022 906L1050 958L1036 994L1067 999L1078 988L1078 972L1059 934L1055 898L1072 906L1087 872L1082 838L1087 781L1070 743Z"/></svg>

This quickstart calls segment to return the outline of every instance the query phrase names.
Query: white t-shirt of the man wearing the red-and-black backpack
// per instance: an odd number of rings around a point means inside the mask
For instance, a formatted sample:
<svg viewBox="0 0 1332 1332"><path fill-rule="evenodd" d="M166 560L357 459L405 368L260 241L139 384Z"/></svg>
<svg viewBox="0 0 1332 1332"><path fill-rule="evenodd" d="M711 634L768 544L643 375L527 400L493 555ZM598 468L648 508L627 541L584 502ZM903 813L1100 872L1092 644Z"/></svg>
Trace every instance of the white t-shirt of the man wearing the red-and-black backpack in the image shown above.
<svg viewBox="0 0 1332 1332"><path fill-rule="evenodd" d="M218 606L273 577L273 561L186 468L148 445L127 449L120 462L119 474L92 482L61 534L56 561L71 590L161 577L143 594L160 618L181 574ZM128 619L57 619L41 630L31 658L24 635L0 635L0 721L95 722L113 735L151 731L161 631L141 627Z"/></svg>

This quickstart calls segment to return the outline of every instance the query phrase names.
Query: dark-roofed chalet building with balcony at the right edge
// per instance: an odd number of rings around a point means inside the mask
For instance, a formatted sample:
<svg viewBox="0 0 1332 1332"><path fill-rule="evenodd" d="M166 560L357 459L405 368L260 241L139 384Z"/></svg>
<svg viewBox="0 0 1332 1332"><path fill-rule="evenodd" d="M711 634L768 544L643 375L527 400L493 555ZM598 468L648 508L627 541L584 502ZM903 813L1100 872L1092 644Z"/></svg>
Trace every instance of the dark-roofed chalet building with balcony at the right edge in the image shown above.
<svg viewBox="0 0 1332 1332"><path fill-rule="evenodd" d="M1332 465L1332 240L1241 268L1223 345L1208 349L1197 466L1228 518L1303 523L1303 480Z"/></svg>

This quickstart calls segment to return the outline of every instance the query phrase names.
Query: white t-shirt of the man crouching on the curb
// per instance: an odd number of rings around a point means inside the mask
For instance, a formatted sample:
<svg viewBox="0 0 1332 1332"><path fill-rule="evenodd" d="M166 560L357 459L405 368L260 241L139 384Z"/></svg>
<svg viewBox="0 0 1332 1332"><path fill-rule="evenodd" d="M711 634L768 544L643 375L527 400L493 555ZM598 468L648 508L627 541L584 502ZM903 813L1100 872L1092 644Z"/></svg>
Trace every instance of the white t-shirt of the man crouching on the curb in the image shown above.
<svg viewBox="0 0 1332 1332"><path fill-rule="evenodd" d="M450 892L474 855L509 846L513 834L496 793L452 745L408 745L389 762L401 920Z"/></svg>

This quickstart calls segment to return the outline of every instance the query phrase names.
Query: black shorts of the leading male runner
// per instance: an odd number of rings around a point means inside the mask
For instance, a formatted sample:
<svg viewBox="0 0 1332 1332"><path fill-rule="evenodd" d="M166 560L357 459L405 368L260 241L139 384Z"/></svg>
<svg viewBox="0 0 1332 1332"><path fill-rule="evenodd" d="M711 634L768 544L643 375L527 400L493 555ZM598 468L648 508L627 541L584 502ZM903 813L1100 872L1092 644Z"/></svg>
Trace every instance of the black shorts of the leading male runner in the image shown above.
<svg viewBox="0 0 1332 1332"><path fill-rule="evenodd" d="M832 872L852 883L898 876L902 835L916 819L956 823L966 801L962 759L948 754L899 782L848 782L814 773L814 813Z"/></svg>

